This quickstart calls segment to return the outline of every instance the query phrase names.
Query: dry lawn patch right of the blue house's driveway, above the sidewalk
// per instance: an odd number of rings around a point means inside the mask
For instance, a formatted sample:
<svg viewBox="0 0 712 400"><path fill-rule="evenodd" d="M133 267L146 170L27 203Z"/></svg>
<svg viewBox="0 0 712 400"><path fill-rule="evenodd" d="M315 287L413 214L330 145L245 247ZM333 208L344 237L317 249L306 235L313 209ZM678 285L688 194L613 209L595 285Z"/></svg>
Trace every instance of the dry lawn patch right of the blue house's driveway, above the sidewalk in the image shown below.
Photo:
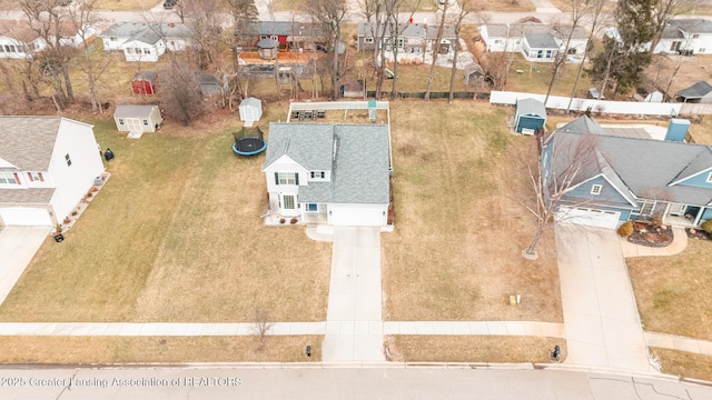
<svg viewBox="0 0 712 400"><path fill-rule="evenodd" d="M712 340L710 254L711 241L690 239L680 254L626 260L645 330Z"/></svg>

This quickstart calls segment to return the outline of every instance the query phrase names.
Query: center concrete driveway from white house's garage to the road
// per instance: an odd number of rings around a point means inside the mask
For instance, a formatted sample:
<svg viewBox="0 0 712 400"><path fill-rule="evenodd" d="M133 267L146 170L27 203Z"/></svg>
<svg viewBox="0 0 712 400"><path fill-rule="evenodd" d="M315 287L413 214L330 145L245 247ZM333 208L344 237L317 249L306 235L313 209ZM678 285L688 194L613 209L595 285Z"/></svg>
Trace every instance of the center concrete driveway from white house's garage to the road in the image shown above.
<svg viewBox="0 0 712 400"><path fill-rule="evenodd" d="M335 227L324 361L385 361L380 229Z"/></svg>

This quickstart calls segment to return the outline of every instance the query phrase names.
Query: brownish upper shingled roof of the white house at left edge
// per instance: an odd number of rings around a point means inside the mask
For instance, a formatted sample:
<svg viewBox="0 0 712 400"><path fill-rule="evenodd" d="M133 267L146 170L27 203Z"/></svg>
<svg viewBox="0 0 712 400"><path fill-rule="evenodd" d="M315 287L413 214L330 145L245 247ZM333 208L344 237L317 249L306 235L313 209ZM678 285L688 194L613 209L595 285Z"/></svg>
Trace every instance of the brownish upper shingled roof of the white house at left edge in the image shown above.
<svg viewBox="0 0 712 400"><path fill-rule="evenodd" d="M0 159L23 171L47 171L61 117L0 117Z"/></svg>

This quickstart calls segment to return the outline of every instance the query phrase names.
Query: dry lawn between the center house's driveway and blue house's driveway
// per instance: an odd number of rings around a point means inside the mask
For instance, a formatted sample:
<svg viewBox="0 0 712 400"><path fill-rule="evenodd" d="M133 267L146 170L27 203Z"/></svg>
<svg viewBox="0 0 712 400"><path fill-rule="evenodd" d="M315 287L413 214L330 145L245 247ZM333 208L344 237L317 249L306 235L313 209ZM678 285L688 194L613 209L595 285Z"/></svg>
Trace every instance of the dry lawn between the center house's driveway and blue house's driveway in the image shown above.
<svg viewBox="0 0 712 400"><path fill-rule="evenodd" d="M505 156L506 108L459 101L392 103L396 229L382 236L388 320L562 321L553 239L520 252L533 219L507 198L523 176ZM522 294L507 306L503 297Z"/></svg>

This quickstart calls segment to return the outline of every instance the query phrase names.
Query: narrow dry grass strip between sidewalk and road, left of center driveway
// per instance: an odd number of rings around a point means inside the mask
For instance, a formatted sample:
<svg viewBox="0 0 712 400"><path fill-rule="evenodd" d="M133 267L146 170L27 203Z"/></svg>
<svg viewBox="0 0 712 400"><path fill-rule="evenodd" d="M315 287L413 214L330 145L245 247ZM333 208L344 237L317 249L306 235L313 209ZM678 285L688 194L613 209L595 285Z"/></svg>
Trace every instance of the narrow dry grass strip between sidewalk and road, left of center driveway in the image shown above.
<svg viewBox="0 0 712 400"><path fill-rule="evenodd" d="M322 337L4 337L3 363L315 362ZM312 346L312 357L304 354Z"/></svg>

